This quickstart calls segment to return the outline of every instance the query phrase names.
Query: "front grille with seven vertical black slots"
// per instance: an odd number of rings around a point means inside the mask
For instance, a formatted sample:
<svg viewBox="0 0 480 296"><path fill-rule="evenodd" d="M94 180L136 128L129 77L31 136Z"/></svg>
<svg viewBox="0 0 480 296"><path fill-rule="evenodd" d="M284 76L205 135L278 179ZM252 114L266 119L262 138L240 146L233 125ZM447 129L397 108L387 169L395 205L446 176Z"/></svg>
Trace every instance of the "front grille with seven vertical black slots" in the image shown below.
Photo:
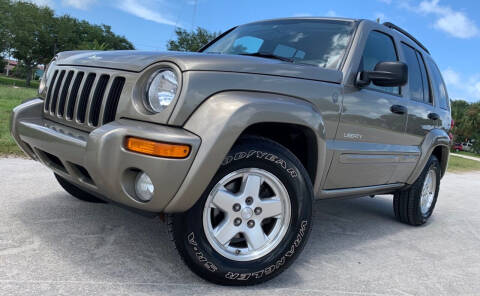
<svg viewBox="0 0 480 296"><path fill-rule="evenodd" d="M49 82L44 112L53 120L92 129L115 120L125 78L116 73L58 67Z"/></svg>

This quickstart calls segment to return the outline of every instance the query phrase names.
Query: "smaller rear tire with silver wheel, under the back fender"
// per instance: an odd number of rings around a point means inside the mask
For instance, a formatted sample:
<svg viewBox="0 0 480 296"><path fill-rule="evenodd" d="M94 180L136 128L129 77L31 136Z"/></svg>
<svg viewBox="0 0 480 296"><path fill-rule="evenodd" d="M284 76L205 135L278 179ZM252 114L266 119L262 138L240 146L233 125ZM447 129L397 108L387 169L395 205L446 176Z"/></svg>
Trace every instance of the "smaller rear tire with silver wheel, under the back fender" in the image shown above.
<svg viewBox="0 0 480 296"><path fill-rule="evenodd" d="M427 222L437 203L440 176L440 162L432 155L417 181L408 189L395 193L393 209L400 222L414 226Z"/></svg>

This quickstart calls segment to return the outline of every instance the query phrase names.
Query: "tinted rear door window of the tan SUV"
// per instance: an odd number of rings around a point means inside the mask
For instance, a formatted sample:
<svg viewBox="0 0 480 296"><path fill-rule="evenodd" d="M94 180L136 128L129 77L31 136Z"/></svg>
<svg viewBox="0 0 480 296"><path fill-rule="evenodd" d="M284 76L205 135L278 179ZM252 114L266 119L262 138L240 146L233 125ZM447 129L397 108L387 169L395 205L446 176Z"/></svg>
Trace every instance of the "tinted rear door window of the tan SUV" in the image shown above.
<svg viewBox="0 0 480 296"><path fill-rule="evenodd" d="M416 50L404 43L402 43L402 49L405 53L405 59L408 65L408 86L410 89L410 97L413 100L423 102L422 72L420 70Z"/></svg>

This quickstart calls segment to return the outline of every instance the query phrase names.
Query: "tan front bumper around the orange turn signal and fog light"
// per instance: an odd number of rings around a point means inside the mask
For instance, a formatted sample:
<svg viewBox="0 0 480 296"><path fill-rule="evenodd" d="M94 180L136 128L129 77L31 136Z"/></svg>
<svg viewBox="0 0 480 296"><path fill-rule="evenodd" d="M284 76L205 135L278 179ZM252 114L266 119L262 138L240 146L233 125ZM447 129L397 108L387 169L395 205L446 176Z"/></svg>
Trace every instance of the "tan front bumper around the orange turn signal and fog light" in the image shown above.
<svg viewBox="0 0 480 296"><path fill-rule="evenodd" d="M184 129L120 119L88 133L43 117L43 101L34 99L13 110L11 133L33 159L78 187L128 207L162 212L175 196L200 146L200 138ZM124 149L126 136L191 146L185 159L168 159ZM155 185L154 197L135 199L134 180L146 172Z"/></svg>

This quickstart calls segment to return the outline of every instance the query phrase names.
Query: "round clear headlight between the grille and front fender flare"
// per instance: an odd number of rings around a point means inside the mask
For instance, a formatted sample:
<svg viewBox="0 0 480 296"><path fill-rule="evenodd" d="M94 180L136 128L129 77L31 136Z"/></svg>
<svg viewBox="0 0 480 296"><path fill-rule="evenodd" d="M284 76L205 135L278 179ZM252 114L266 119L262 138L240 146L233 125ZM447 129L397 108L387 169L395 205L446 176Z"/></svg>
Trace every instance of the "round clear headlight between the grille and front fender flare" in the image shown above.
<svg viewBox="0 0 480 296"><path fill-rule="evenodd" d="M152 75L148 85L145 107L153 113L161 112L175 99L178 90L177 74L160 70Z"/></svg>

